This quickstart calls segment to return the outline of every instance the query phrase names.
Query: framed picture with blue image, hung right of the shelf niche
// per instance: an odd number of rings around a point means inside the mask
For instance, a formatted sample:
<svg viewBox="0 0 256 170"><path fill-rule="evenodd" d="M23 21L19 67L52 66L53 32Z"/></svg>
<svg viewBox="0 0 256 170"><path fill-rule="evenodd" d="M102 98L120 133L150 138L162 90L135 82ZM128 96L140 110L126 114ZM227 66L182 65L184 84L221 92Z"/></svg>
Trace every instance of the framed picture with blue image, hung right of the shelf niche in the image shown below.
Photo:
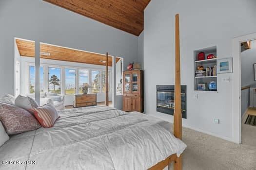
<svg viewBox="0 0 256 170"><path fill-rule="evenodd" d="M217 73L233 72L232 58L223 58L217 60Z"/></svg>

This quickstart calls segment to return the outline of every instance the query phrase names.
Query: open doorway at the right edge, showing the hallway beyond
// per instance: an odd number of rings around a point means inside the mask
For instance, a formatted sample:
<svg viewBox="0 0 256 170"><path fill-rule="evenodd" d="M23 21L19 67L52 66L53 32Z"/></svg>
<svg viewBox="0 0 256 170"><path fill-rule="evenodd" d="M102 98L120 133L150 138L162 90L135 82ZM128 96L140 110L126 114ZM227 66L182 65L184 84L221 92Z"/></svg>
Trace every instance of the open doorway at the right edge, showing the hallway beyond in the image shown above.
<svg viewBox="0 0 256 170"><path fill-rule="evenodd" d="M241 42L241 143L256 146L256 40Z"/></svg>

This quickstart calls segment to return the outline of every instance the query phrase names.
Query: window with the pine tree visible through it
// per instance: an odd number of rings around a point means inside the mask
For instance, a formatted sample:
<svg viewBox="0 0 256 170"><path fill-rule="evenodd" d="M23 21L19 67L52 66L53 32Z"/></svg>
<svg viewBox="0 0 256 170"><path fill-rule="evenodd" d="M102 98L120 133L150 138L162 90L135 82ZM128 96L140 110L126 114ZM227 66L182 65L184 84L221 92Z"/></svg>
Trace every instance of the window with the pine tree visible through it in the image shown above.
<svg viewBox="0 0 256 170"><path fill-rule="evenodd" d="M60 68L49 68L49 92L60 94Z"/></svg>

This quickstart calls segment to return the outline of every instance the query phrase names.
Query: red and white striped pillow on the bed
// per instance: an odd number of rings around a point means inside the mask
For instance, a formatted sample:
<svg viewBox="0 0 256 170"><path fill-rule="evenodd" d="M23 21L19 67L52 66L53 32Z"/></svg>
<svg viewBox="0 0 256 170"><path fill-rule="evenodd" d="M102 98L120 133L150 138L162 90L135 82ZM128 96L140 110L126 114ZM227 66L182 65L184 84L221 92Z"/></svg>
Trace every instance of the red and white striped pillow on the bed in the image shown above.
<svg viewBox="0 0 256 170"><path fill-rule="evenodd" d="M42 127L53 127L54 122L59 118L59 114L52 104L45 104L41 107L30 109Z"/></svg>

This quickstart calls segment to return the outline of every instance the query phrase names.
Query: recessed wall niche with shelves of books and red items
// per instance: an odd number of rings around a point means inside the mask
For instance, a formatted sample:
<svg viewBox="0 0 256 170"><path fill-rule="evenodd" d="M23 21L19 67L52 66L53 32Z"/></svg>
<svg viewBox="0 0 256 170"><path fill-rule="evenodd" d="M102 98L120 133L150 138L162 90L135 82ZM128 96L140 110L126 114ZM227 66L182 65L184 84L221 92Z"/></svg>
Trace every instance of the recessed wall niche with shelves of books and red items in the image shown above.
<svg viewBox="0 0 256 170"><path fill-rule="evenodd" d="M198 60L198 54L203 52L205 57ZM207 59L209 54L213 54L215 58ZM198 69L198 67L203 67ZM215 83L213 83L215 82ZM209 88L209 84L211 87ZM205 90L198 88L204 84ZM208 47L194 51L194 90L195 91L217 91L217 46Z"/></svg>

